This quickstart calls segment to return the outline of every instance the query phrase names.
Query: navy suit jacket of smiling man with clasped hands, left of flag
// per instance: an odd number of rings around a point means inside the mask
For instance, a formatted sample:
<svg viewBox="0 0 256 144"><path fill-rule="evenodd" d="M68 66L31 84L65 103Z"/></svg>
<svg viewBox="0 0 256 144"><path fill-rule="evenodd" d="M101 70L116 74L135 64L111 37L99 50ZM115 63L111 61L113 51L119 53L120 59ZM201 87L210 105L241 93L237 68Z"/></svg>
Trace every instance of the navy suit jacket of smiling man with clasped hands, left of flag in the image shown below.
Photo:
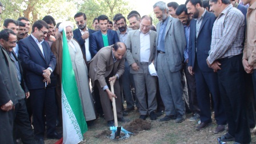
<svg viewBox="0 0 256 144"><path fill-rule="evenodd" d="M19 45L19 56L21 57L23 70L25 70L25 81L28 89L42 89L45 88L45 82L43 82L43 70L51 67L55 69L56 58L51 52L49 43L46 41L42 42L42 51L39 46L34 41L31 35L27 38L21 39L18 43ZM53 73L51 73L53 76Z"/></svg>

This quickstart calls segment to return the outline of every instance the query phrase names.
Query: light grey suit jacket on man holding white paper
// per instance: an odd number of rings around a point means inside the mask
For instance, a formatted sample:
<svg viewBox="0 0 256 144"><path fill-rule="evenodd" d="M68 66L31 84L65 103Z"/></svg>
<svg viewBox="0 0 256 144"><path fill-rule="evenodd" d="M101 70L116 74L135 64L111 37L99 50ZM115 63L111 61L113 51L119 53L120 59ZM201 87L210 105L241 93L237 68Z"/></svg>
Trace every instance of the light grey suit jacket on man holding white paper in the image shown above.
<svg viewBox="0 0 256 144"><path fill-rule="evenodd" d="M140 57L140 53L141 53L140 34L141 33L139 32L139 30L129 31L126 39L126 47L127 47L126 59L129 65L136 62L139 67L142 67L140 63L140 58L141 58ZM150 37L150 57L149 57L149 65L150 65L155 57L155 39L157 38L157 32L151 31L149 34L149 37ZM139 68L139 71L134 71L130 66L130 73L142 74L143 70Z"/></svg>

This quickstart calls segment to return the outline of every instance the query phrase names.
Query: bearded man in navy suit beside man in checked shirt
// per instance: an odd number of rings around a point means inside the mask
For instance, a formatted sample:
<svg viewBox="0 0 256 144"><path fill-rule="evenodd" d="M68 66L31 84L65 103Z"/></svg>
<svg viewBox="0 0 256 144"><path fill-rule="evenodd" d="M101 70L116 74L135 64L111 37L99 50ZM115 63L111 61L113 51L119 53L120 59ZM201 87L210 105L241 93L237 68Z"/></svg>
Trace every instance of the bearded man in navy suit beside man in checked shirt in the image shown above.
<svg viewBox="0 0 256 144"><path fill-rule="evenodd" d="M215 16L203 8L201 0L187 0L186 7L187 13L192 14L194 18L190 23L189 67L187 69L190 74L195 74L197 100L201 110L201 124L196 129L201 130L211 125L211 92L214 101L214 118L218 124L214 133L220 133L225 130L226 115L219 95L217 73L214 73L206 63Z"/></svg>

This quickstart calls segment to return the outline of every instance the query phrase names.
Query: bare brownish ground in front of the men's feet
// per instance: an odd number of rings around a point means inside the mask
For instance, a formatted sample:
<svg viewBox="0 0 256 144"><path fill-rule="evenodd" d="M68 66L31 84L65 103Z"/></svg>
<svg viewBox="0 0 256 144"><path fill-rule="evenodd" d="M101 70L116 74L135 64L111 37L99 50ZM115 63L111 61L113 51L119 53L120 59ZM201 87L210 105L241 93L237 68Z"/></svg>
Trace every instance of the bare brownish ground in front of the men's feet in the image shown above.
<svg viewBox="0 0 256 144"><path fill-rule="evenodd" d="M214 115L214 114L213 114ZM162 118L158 117L159 118ZM95 125L89 127L89 130L85 133L85 141L81 143L218 143L217 138L225 134L227 131L223 131L219 134L214 134L213 131L217 126L215 122L213 125L207 127L206 129L197 131L195 126L197 122L189 122L188 119L191 117L191 114L187 114L187 119L182 123L175 123L174 120L159 122L151 121L148 117L147 122L151 124L150 130L142 130L138 134L131 135L130 138L125 140L111 140L106 138L106 134L109 130L107 123L104 118L98 118L95 121ZM139 113L135 110L129 113L126 117L134 121L134 119L139 118ZM119 126L127 127L130 122L122 123L119 122ZM129 127L128 127L129 128ZM125 128L126 129L126 128ZM110 134L110 131L109 131ZM256 135L251 133L251 143L256 143ZM47 140L45 143L55 143L57 140ZM227 142L227 144L234 142Z"/></svg>

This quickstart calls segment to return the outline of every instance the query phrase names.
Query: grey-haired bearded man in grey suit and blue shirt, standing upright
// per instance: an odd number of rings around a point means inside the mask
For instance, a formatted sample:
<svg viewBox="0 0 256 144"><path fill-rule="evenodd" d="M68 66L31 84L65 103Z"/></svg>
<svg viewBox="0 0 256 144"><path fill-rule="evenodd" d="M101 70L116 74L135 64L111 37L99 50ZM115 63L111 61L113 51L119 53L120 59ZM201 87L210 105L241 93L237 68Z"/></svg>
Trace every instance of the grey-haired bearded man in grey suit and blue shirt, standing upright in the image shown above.
<svg viewBox="0 0 256 144"><path fill-rule="evenodd" d="M165 2L157 2L153 8L155 16L160 21L157 24L157 48L154 63L166 114L159 121L175 119L175 122L179 123L186 118L180 73L186 47L184 27L179 19L170 17Z"/></svg>

